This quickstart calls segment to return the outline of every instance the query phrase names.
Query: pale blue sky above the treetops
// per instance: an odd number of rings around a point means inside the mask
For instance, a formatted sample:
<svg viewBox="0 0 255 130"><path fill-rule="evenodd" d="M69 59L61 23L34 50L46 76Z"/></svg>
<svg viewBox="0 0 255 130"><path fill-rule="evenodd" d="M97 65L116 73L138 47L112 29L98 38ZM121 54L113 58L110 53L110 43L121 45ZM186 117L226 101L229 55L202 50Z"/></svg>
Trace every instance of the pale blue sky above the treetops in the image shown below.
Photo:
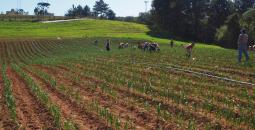
<svg viewBox="0 0 255 130"><path fill-rule="evenodd" d="M17 2L18 1L18 2ZM33 10L38 2L49 2L51 4L49 12L56 16L64 15L72 5L86 4L93 8L96 0L0 0L0 12L6 12L12 8L22 8L33 14ZM117 16L138 16L139 12L145 11L145 0L104 0ZM148 0L148 9L151 7L151 0Z"/></svg>

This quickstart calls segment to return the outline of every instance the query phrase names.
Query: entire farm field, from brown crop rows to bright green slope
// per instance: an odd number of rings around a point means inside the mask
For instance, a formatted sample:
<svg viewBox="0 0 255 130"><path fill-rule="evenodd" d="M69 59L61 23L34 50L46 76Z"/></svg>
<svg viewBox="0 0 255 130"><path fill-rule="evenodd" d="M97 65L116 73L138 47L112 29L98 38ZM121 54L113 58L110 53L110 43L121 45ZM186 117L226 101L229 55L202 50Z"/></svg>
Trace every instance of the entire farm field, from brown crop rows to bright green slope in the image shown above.
<svg viewBox="0 0 255 130"><path fill-rule="evenodd" d="M255 84L254 52L251 63L237 64L235 50L198 45L187 59L183 42L170 48L143 25L20 24L0 24L7 32L0 33L0 128L255 129L254 86L171 69ZM145 40L159 42L161 51L135 47ZM131 47L119 50L120 42Z"/></svg>

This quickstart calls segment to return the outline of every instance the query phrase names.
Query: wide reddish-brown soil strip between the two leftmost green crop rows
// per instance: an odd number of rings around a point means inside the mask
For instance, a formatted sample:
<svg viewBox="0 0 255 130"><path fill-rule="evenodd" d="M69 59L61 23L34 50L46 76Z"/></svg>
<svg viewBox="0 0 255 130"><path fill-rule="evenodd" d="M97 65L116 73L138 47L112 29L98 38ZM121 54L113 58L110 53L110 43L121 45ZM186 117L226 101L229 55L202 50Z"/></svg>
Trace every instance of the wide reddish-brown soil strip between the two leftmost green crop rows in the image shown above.
<svg viewBox="0 0 255 130"><path fill-rule="evenodd" d="M13 83L13 96L16 101L17 121L24 129L54 129L53 118L47 109L30 91L20 76L10 68L7 75Z"/></svg>

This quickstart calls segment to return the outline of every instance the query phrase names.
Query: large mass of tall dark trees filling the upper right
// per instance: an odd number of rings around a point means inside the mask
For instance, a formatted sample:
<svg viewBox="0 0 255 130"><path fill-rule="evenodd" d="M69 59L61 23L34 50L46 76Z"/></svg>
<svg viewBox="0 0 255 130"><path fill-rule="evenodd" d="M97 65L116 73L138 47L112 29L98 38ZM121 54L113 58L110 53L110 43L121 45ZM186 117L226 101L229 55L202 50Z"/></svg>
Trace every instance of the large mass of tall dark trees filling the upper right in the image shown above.
<svg viewBox="0 0 255 130"><path fill-rule="evenodd" d="M152 34L237 48L242 28L255 41L253 7L254 0L153 0L152 9L139 17Z"/></svg>

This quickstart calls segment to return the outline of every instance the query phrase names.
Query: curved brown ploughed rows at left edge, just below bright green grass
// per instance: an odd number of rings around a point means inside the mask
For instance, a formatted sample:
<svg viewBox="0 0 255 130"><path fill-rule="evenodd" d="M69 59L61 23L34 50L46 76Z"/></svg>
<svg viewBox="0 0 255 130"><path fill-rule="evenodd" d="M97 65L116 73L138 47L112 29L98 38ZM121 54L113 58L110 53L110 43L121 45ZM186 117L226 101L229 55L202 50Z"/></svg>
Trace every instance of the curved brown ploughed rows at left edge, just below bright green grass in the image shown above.
<svg viewBox="0 0 255 130"><path fill-rule="evenodd" d="M0 42L1 63L28 63L32 59L44 58L59 48L59 41L2 41Z"/></svg>

